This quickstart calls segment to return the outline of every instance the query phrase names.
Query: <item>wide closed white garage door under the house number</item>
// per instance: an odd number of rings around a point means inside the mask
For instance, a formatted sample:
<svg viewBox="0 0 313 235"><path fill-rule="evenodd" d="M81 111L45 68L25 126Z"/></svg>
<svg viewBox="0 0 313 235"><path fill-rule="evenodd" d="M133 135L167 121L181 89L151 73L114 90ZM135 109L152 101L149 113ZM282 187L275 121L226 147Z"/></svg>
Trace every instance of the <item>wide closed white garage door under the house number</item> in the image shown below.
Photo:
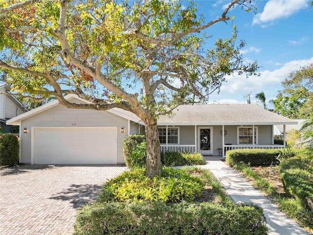
<svg viewBox="0 0 313 235"><path fill-rule="evenodd" d="M34 128L34 164L116 164L117 129Z"/></svg>

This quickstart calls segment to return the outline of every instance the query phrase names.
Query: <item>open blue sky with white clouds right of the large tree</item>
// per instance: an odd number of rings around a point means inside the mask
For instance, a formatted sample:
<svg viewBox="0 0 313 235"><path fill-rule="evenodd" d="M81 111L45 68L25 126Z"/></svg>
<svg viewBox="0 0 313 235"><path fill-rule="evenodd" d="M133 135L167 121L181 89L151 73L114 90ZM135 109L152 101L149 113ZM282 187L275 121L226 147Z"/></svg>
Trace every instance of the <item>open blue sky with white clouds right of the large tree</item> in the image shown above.
<svg viewBox="0 0 313 235"><path fill-rule="evenodd" d="M196 0L199 13L204 14L206 21L219 17L228 2ZM238 39L246 41L242 54L246 61L257 60L261 75L227 77L221 93L211 94L208 103L245 103L244 95L249 93L251 103L257 103L255 94L261 91L268 101L283 89L281 82L291 71L313 63L313 7L310 3L309 0L255 0L257 15L238 6L232 9L228 16L235 17L233 24L239 31ZM211 47L217 38L231 36L231 22L218 23L206 32L213 36L207 42L207 47ZM272 105L268 104L268 108Z"/></svg>

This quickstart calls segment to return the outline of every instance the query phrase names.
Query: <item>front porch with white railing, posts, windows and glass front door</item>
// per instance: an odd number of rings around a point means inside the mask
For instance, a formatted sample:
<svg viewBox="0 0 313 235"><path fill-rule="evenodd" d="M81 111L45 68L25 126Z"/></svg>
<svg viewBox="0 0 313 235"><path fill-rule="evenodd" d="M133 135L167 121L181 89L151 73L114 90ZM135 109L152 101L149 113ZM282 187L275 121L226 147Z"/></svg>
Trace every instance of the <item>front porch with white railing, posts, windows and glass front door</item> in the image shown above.
<svg viewBox="0 0 313 235"><path fill-rule="evenodd" d="M159 128L159 138L163 138L161 152L200 152L203 156L225 157L226 152L233 149L286 146L285 136L284 144L274 144L272 125L164 126Z"/></svg>

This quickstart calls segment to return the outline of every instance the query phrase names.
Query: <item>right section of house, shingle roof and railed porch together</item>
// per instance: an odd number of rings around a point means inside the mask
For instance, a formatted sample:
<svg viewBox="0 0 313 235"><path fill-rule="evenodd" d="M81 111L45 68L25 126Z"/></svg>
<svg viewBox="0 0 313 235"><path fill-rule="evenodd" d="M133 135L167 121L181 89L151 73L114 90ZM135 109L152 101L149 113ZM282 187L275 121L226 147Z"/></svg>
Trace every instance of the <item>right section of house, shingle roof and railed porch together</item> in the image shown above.
<svg viewBox="0 0 313 235"><path fill-rule="evenodd" d="M202 155L225 156L231 149L284 148L286 143L274 144L274 125L286 128L296 124L254 104L180 105L173 115L158 120L161 150Z"/></svg>

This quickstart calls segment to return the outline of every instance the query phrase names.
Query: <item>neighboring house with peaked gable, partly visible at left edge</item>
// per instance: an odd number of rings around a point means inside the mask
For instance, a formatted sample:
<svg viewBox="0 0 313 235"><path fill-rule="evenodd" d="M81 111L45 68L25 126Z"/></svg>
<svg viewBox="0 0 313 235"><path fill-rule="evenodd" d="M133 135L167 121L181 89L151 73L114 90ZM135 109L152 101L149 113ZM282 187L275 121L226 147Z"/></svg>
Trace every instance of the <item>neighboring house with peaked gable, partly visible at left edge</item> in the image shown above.
<svg viewBox="0 0 313 235"><path fill-rule="evenodd" d="M10 93L10 87L6 83L0 83L0 124L4 133L9 133L11 126L6 125L6 120L19 116L27 111L22 103L14 96L2 93Z"/></svg>

